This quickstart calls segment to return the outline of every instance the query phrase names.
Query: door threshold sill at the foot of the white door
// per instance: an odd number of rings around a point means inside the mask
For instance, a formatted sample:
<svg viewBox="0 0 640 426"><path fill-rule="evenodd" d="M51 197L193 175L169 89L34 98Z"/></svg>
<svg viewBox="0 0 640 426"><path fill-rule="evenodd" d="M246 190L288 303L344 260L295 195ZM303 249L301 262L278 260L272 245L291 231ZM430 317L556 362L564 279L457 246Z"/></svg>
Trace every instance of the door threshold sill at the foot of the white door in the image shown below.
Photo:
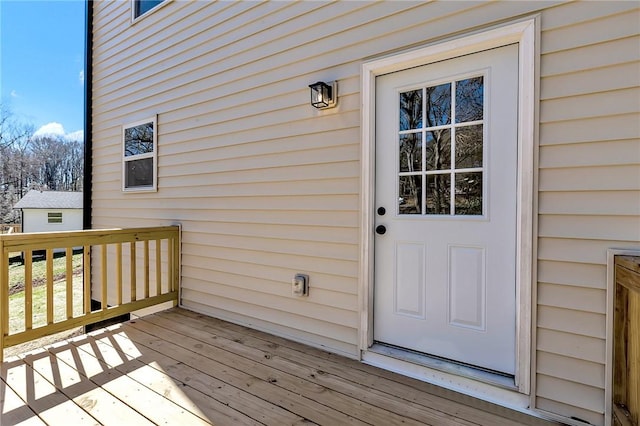
<svg viewBox="0 0 640 426"><path fill-rule="evenodd" d="M505 373L473 367L446 358L427 355L385 343L376 342L368 349L368 351L411 364L416 364L418 366L442 371L458 377L465 377L474 381L483 382L506 390L518 390L514 377Z"/></svg>

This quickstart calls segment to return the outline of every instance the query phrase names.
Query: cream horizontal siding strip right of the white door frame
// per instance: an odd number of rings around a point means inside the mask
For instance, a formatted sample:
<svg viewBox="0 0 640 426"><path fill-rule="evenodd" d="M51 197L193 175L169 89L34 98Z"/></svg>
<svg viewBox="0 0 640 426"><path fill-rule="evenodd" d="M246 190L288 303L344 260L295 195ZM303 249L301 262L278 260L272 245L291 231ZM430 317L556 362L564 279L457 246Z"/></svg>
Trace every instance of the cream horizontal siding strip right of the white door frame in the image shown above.
<svg viewBox="0 0 640 426"><path fill-rule="evenodd" d="M541 23L536 406L603 424L606 250L640 246L640 12Z"/></svg>

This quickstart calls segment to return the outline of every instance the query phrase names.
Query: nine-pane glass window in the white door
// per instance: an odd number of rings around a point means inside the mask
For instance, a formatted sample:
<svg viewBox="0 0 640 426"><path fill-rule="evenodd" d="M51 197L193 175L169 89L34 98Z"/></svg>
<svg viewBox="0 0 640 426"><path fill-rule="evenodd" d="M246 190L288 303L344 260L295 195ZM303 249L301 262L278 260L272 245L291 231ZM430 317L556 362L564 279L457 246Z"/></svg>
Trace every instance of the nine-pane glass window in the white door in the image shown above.
<svg viewBox="0 0 640 426"><path fill-rule="evenodd" d="M398 212L482 215L484 77L400 93Z"/></svg>

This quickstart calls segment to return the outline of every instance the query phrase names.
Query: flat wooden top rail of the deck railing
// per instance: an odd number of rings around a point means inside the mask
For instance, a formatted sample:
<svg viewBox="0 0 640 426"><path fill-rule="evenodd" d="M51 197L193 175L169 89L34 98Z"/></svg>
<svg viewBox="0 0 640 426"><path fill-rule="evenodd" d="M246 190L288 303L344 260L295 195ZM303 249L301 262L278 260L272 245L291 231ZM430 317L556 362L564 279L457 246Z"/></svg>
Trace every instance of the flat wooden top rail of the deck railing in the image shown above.
<svg viewBox="0 0 640 426"><path fill-rule="evenodd" d="M42 250L47 248L113 244L177 237L178 226L148 228L88 229L79 231L32 232L0 235L4 251Z"/></svg>

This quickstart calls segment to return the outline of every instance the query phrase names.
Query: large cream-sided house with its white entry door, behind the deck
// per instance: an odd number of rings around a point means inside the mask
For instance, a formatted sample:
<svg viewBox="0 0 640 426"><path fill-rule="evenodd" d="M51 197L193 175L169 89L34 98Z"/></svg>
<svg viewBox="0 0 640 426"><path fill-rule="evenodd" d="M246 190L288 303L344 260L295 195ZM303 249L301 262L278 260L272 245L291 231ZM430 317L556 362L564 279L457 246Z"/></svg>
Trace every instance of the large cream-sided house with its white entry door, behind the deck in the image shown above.
<svg viewBox="0 0 640 426"><path fill-rule="evenodd" d="M91 226L181 224L181 306L610 422L637 1L89 4Z"/></svg>

